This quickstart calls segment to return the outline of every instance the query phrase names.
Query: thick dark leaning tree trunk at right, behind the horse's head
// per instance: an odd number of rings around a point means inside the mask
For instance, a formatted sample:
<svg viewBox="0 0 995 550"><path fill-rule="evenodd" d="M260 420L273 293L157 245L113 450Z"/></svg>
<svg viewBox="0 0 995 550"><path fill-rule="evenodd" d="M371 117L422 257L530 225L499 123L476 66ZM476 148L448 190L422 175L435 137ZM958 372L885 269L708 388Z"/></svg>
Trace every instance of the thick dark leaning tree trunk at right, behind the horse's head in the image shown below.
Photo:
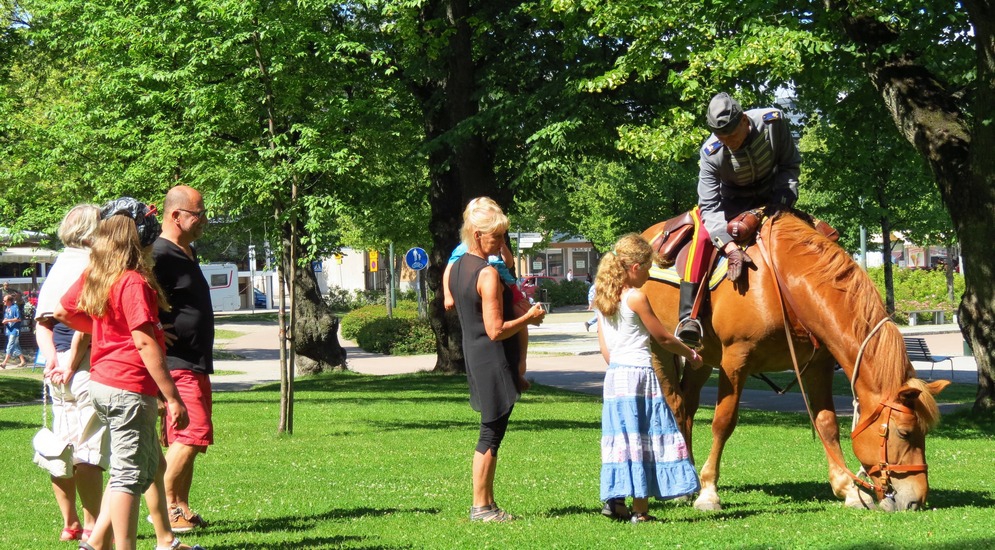
<svg viewBox="0 0 995 550"><path fill-rule="evenodd" d="M995 13L990 2L967 0L978 52L977 86L970 117L915 54L884 53L898 36L873 17L850 13L845 0L826 0L842 12L843 29L863 51L876 51L865 69L884 98L899 132L926 158L950 213L964 257L965 291L960 326L978 364L974 411L995 411ZM969 126L968 119L974 121Z"/></svg>

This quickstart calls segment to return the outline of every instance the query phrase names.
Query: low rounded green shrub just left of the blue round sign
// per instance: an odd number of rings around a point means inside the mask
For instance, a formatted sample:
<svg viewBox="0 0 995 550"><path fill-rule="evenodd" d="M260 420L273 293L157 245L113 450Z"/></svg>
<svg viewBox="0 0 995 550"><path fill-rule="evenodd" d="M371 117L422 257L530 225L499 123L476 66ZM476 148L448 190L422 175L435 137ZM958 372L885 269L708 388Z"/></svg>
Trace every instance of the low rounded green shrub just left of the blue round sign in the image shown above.
<svg viewBox="0 0 995 550"><path fill-rule="evenodd" d="M418 304L398 301L394 316L383 305L364 306L342 318L342 336L369 352L413 355L435 351L435 333L428 319L418 318Z"/></svg>

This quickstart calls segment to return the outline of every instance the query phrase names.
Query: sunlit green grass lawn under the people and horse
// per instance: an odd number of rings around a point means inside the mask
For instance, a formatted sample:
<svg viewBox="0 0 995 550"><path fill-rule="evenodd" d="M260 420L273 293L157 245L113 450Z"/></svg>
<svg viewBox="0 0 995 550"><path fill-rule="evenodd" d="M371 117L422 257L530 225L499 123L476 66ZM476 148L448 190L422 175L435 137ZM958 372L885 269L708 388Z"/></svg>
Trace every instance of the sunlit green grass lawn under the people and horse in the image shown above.
<svg viewBox="0 0 995 550"><path fill-rule="evenodd" d="M296 388L290 437L275 433L276 385L216 394L218 444L198 459L192 495L212 526L186 541L209 550L995 544L995 426L962 415L929 439L927 511L843 508L804 415L744 411L723 461L725 510L651 503L663 521L633 526L598 513L600 399L539 386L516 407L497 474L498 502L521 519L484 525L467 520L479 416L467 403L465 377L340 373L301 379ZM699 457L710 415L699 414ZM68 547L55 540L61 521L50 483L30 461L39 417L35 405L0 409L7 457L0 517L9 548ZM144 521L139 536L140 547L151 547Z"/></svg>

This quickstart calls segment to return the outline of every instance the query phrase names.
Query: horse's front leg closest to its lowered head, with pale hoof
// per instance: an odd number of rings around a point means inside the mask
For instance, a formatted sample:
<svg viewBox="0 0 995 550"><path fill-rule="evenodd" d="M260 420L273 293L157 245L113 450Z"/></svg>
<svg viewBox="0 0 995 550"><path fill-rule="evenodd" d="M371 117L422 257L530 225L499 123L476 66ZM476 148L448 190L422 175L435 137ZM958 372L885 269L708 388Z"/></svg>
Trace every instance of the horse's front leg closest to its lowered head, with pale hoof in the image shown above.
<svg viewBox="0 0 995 550"><path fill-rule="evenodd" d="M866 508L861 502L861 493L853 484L847 470L840 467L846 464L843 448L840 446L839 421L836 406L833 404L833 359L826 363L812 364L805 373L805 389L809 404L815 416L815 429L825 442L826 460L829 462L829 484L833 493L852 508ZM864 500L868 500L866 497Z"/></svg>

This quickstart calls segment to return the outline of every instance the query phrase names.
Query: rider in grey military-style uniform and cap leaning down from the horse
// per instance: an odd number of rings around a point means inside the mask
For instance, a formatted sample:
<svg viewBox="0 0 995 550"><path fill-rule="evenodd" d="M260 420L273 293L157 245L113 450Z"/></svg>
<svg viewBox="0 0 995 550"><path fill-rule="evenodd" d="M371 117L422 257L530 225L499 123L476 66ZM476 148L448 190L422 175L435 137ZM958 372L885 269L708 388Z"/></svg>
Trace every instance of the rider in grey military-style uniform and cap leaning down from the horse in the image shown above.
<svg viewBox="0 0 995 550"><path fill-rule="evenodd" d="M729 260L729 279L739 279L753 260L730 236L726 224L739 214L767 207L767 214L790 208L798 199L801 155L784 113L777 109L743 112L727 93L717 94L708 105L708 126L713 134L701 147L698 173L698 207L711 243ZM707 246L702 240L693 246ZM693 254L707 258L704 250ZM684 322L690 317L695 294L706 276L690 266L681 282L681 321L678 337L690 346L700 345L701 327Z"/></svg>

